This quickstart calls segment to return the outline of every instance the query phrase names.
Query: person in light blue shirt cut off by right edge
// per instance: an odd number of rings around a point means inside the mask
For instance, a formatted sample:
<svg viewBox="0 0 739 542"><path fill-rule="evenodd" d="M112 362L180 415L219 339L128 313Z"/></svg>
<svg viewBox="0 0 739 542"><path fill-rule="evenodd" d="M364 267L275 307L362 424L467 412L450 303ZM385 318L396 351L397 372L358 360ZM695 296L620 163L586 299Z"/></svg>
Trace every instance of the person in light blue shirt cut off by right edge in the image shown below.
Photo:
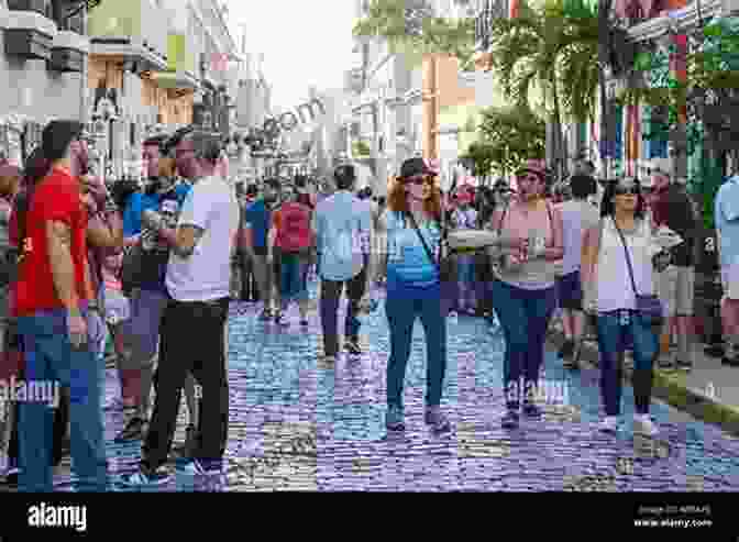
<svg viewBox="0 0 739 542"><path fill-rule="evenodd" d="M721 185L714 201L714 220L721 268L721 323L725 352L721 364L739 367L739 174Z"/></svg>

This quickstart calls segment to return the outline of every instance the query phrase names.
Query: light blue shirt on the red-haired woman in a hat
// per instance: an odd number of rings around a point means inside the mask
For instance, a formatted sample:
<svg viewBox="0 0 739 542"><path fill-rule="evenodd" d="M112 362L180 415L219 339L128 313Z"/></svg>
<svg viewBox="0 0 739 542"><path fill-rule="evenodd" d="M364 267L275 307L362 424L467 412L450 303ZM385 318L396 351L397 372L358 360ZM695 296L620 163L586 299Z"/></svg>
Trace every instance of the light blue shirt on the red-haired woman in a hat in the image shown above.
<svg viewBox="0 0 739 542"><path fill-rule="evenodd" d="M385 211L387 224L387 284L391 286L428 287L439 283L439 269L423 248L410 220L395 212ZM434 258L439 254L441 229L437 222L419 224Z"/></svg>

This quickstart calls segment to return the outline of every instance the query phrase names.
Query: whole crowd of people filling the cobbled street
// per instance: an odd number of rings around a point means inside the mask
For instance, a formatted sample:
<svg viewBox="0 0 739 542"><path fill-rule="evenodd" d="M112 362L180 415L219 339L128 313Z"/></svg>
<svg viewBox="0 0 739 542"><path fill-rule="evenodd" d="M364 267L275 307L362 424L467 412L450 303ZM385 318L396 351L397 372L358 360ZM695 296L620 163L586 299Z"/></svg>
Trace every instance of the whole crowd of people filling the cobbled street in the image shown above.
<svg viewBox="0 0 739 542"><path fill-rule="evenodd" d="M442 396L446 319L484 318L505 344L501 424L542 416L537 388L544 342L561 318L559 355L572 370L587 328L597 335L605 416L621 412L625 352L635 363L635 432L658 434L649 416L655 364L690 370L696 244L692 197L662 169L599 182L586 159L554 184L540 161L515 186L440 189L423 158L404 162L387 197L357 191L353 165L313 179L266 178L234 188L223 144L187 128L144 143L147 179L106 186L89 175L82 126L53 121L23 170L0 167L3 357L0 378L59 383L58 408L10 406L7 482L51 491L70 449L80 491L111 487L104 409L128 413L118 441L141 441L140 468L115 485L163 484L181 395L188 427L178 472L222 472L229 433L228 331L234 299L260 302L258 320L286 328L293 305L307 329L317 308L323 362L362 354L366 314L389 330L386 428L405 429L404 380L413 324L427 346L424 421L452 430ZM739 357L739 177L716 199L725 291L725 363ZM676 241L675 241L676 239ZM665 241L666 240L666 241ZM309 296L311 277L320 289ZM339 308L345 297L343 331ZM194 330L197 332L189 332ZM675 331L674 360L660 356ZM120 398L103 405L106 342ZM483 353L484 354L484 353ZM152 395L154 397L152 401ZM68 438L67 438L68 434Z"/></svg>

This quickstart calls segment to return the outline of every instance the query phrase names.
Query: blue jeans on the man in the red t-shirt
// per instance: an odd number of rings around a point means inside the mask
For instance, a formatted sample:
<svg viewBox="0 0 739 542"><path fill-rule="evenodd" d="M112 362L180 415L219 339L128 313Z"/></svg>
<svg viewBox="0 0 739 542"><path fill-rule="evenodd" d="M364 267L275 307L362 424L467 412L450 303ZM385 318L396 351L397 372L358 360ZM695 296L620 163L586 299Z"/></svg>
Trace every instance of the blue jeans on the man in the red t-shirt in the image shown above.
<svg viewBox="0 0 739 542"><path fill-rule="evenodd" d="M85 316L88 317L86 311ZM89 318L88 318L89 321ZM96 325L88 324L95 333ZM66 311L44 310L18 319L23 336L26 381L69 388L71 458L78 491L104 491L108 474L100 392L100 363L93 347L75 350L67 336ZM90 336L89 345L99 341ZM52 428L47 402L19 406L19 490L53 490Z"/></svg>

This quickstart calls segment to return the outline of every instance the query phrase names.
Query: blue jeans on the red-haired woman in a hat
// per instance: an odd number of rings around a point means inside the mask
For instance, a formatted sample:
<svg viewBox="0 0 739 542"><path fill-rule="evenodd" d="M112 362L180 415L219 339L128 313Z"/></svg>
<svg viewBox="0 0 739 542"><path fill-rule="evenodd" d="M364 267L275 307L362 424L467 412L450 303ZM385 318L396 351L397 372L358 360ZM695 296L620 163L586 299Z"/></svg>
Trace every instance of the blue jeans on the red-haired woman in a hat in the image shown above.
<svg viewBox="0 0 739 542"><path fill-rule="evenodd" d="M387 361L387 405L402 409L406 365L410 357L413 323L420 317L426 334L426 405L441 405L446 373L446 318L441 311L441 286L412 288L388 283L385 300L390 328L390 357Z"/></svg>

